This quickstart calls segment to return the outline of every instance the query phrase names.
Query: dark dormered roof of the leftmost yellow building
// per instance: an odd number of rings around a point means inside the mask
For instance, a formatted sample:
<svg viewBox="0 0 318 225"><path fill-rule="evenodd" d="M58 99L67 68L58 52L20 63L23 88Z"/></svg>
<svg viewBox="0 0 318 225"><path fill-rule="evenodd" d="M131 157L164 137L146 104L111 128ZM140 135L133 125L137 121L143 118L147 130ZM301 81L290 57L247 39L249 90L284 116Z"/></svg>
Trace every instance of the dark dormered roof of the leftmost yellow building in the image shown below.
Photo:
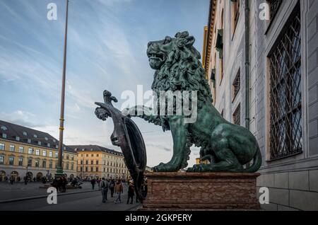
<svg viewBox="0 0 318 225"><path fill-rule="evenodd" d="M59 146L59 141L46 132L41 132L40 130L31 129L29 127L23 127L3 120L0 120L0 135L1 139L32 144L55 150ZM76 151L69 148L69 146L66 146L65 144L63 146L64 151L76 153Z"/></svg>

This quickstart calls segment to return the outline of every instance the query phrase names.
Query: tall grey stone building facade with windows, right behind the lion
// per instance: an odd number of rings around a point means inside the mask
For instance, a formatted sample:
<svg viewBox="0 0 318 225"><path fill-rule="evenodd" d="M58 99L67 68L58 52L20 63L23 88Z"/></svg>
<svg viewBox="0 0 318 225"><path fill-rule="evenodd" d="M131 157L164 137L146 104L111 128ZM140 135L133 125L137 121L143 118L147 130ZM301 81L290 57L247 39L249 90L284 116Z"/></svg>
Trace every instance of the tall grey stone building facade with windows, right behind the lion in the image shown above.
<svg viewBox="0 0 318 225"><path fill-rule="evenodd" d="M261 148L262 207L317 210L318 1L211 0L205 33L213 104Z"/></svg>

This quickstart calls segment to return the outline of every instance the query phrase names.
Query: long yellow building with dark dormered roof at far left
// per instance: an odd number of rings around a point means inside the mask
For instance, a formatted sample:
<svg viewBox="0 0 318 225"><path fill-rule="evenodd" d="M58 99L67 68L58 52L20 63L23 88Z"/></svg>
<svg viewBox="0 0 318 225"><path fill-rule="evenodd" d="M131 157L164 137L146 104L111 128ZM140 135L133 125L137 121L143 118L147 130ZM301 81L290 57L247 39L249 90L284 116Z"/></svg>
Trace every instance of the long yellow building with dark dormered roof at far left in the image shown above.
<svg viewBox="0 0 318 225"><path fill-rule="evenodd" d="M30 179L54 178L58 144L45 132L0 120L0 180L23 180L25 175ZM66 176L76 176L76 151L64 146L63 161Z"/></svg>

